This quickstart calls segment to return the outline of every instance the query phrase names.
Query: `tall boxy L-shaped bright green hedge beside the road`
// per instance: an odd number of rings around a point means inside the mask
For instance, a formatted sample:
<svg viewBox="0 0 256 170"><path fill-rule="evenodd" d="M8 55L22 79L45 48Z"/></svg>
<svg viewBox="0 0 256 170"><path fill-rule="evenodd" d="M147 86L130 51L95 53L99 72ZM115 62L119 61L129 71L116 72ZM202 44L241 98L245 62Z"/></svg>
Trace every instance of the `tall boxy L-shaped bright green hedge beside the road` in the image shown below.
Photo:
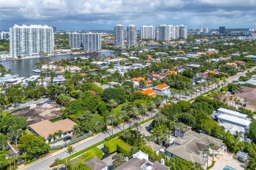
<svg viewBox="0 0 256 170"><path fill-rule="evenodd" d="M109 154L115 151L118 151L120 153L123 153L124 155L129 155L130 148L131 148L130 145L128 145L121 139L117 139L117 138L104 143L104 149Z"/></svg>

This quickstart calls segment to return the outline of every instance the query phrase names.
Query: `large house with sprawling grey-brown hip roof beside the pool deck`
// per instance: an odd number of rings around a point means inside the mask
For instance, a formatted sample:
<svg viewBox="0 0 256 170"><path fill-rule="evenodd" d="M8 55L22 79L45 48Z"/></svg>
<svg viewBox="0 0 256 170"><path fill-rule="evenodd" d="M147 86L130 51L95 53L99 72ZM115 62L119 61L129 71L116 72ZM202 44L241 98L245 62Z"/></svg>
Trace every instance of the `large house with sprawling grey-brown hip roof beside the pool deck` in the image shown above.
<svg viewBox="0 0 256 170"><path fill-rule="evenodd" d="M210 143L214 143L214 149L210 149ZM187 161L191 161L200 165L202 168L207 167L207 153L206 149L210 150L210 155L215 157L223 155L223 152L227 152L227 147L222 140L211 137L204 133L197 133L189 130L183 138L177 138L173 140L173 144L165 149L165 154L170 158L179 158ZM216 159L217 157L215 157Z"/></svg>

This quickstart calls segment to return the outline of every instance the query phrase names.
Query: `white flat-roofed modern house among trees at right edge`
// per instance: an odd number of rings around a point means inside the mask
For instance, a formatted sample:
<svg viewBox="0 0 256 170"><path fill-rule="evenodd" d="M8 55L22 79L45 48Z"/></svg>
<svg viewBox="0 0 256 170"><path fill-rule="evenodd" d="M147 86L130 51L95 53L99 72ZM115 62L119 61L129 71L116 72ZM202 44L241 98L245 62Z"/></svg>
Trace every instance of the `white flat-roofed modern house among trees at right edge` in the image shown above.
<svg viewBox="0 0 256 170"><path fill-rule="evenodd" d="M213 112L212 117L219 122L220 126L224 126L226 132L229 131L234 135L237 131L241 134L241 140L247 140L246 132L251 124L251 119L247 115L226 108L219 108Z"/></svg>

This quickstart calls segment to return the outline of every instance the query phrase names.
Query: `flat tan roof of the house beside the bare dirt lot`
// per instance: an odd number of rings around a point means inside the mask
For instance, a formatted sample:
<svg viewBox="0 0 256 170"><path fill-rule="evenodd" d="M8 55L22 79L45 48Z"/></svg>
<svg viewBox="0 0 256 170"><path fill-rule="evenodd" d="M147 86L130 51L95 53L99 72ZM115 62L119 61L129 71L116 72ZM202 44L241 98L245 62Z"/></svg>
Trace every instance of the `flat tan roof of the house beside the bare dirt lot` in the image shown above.
<svg viewBox="0 0 256 170"><path fill-rule="evenodd" d="M62 130L62 132L67 132L73 130L75 122L71 121L69 118L65 120L50 122L49 120L41 121L38 123L30 124L29 127L33 129L37 134L44 137L44 139L48 139L49 134L53 134L58 130Z"/></svg>

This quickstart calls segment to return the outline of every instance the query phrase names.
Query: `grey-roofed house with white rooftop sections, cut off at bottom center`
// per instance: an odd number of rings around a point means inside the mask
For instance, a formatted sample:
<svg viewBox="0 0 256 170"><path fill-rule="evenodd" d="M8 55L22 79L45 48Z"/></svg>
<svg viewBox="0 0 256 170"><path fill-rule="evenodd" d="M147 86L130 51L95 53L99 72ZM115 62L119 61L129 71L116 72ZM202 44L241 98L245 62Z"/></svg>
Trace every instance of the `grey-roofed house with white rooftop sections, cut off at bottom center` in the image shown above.
<svg viewBox="0 0 256 170"><path fill-rule="evenodd" d="M165 165L164 159L161 159L161 163L157 160L153 163L150 162L148 154L145 154L141 150L133 154L132 158L127 160L122 165L115 168L115 170L170 170L170 167Z"/></svg>

